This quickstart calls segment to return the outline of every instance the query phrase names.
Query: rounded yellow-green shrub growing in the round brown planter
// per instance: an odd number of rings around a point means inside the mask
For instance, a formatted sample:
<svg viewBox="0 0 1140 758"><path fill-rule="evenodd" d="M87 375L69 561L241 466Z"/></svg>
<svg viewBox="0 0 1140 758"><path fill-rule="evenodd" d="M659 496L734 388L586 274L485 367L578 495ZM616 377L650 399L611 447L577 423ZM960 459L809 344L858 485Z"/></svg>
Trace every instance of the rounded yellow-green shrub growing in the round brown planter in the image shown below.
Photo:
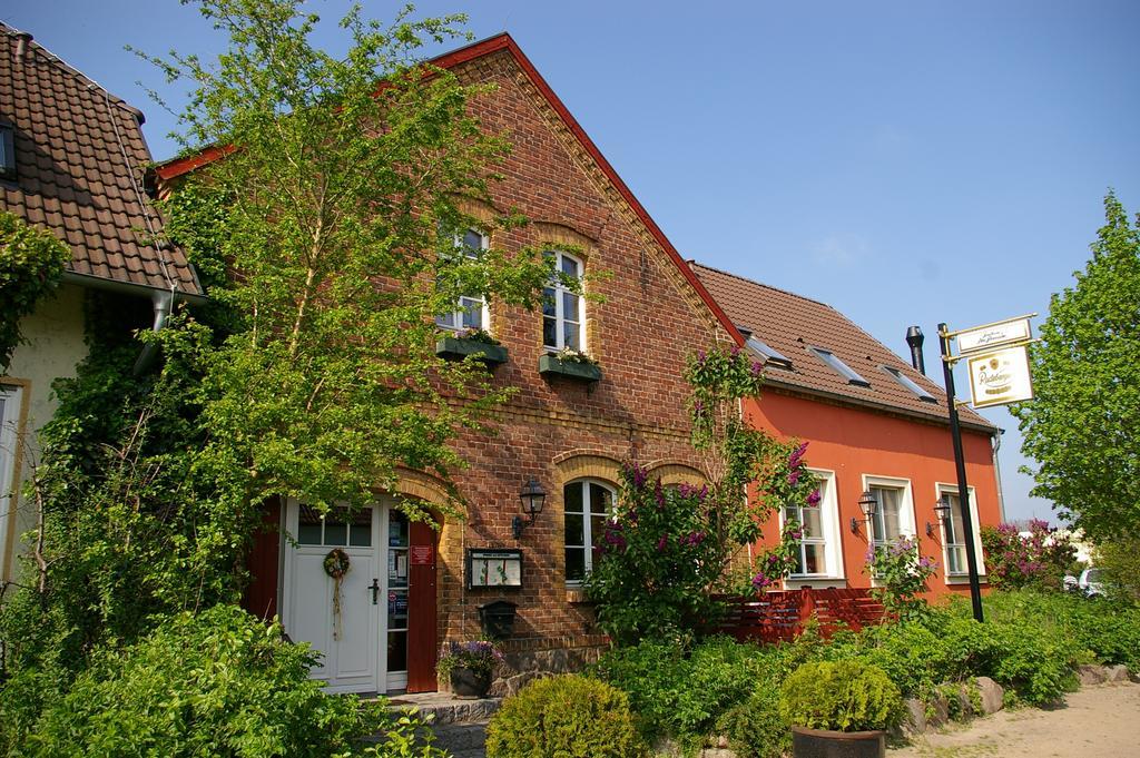
<svg viewBox="0 0 1140 758"><path fill-rule="evenodd" d="M781 688L780 714L790 724L862 732L899 723L898 687L877 666L857 660L800 666Z"/></svg>

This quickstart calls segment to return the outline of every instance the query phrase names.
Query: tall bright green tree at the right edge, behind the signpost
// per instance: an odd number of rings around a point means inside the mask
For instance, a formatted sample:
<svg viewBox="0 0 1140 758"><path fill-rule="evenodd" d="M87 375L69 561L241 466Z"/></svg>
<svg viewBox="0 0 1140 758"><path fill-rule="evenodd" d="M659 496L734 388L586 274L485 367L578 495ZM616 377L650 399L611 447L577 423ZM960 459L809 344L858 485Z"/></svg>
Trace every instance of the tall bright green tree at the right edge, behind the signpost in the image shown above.
<svg viewBox="0 0 1140 758"><path fill-rule="evenodd" d="M1140 233L1112 193L1091 250L1031 348L1036 399L1012 413L1033 495L1090 538L1140 536Z"/></svg>

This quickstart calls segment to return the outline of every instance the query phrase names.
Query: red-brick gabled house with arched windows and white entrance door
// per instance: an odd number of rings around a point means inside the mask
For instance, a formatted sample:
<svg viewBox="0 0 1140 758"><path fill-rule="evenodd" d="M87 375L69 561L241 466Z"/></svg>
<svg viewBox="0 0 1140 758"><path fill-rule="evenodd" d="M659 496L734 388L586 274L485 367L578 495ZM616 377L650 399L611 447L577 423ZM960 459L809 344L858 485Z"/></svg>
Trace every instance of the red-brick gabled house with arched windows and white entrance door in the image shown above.
<svg viewBox="0 0 1140 758"><path fill-rule="evenodd" d="M597 302L560 292L545 313L461 303L454 318L441 319L463 326L465 308L467 323L479 321L507 351L495 381L519 388L496 414L496 435L471 433L456 443L470 463L456 474L465 520L443 520L438 532L407 524L383 494L353 524L321 522L299 503L270 513L275 528L255 548L247 604L259 614L279 613L293 638L325 653L315 676L333 691L434 690L440 643L484 636L479 608L496 601L516 605L505 647L520 670L557 670L596 653L604 641L580 580L619 468L636 460L666 482L702 481L689 441L684 359L738 339L510 36L433 63L465 84L495 84L472 108L513 144L499 168L504 180L490 188L492 205L469 202L463 210L488 222L510 209L530 219L494 233L494 241L473 229L471 243L506 251L543 245L565 272L610 276L587 284L602 295ZM176 180L202 157L170 162L160 178ZM600 378L562 373L549 354L563 347L595 359ZM520 491L531 482L545 492L545 506L534 523L522 519L516 537ZM414 471L404 472L398 494L429 506L447 499L442 482ZM333 547L345 549L355 569L341 588L340 628L331 620L332 581L320 564Z"/></svg>

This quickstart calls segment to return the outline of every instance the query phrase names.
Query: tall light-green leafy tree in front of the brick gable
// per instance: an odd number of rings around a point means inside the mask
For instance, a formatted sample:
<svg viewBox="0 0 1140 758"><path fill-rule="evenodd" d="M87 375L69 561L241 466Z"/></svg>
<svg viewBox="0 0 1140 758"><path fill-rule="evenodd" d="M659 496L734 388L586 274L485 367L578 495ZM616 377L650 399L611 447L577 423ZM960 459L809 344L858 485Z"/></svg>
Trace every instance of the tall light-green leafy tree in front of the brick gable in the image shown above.
<svg viewBox="0 0 1140 758"><path fill-rule="evenodd" d="M235 317L198 357L198 464L237 488L227 497L324 507L394 489L398 466L446 479L463 464L448 443L510 392L479 361L435 356L434 315L461 295L532 307L551 268L540 248L457 250L469 227L520 222L459 210L487 199L508 145L471 115L480 88L416 58L464 19L385 27L357 7L335 57L310 44L319 19L300 5L202 0L229 50L150 59L193 88L187 144L227 152L184 188L223 198L221 234L195 239L231 272L212 294Z"/></svg>

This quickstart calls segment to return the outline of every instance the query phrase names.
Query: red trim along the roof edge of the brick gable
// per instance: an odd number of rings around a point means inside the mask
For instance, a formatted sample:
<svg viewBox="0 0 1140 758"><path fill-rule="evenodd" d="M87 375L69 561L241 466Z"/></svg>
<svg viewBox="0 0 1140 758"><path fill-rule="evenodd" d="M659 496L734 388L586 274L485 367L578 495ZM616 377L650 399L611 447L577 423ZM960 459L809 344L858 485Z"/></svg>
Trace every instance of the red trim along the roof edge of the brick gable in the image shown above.
<svg viewBox="0 0 1140 758"><path fill-rule="evenodd" d="M665 233L657 226L657 222L653 221L645 207L634 196L629 187L626 186L626 182L621 180L618 172L613 170L610 162L605 160L602 152L597 149L596 145L594 145L594 141L586 133L586 130L584 130L578 121L570 114L567 106L559 99L559 96L554 93L554 90L546 83L546 80L543 79L543 75L538 73L538 70L535 68L534 64L530 63L530 59L527 58L527 56L522 52L522 49L510 34L506 32L496 34L495 36L486 40L474 42L467 47L463 47L458 50L453 50L451 52L446 52L437 58L432 58L429 63L433 66L438 66L439 68L451 68L453 66L474 60L475 58L481 58L499 50L508 50L511 52L515 63L519 64L519 67L522 68L527 76L530 78L531 83L534 83L543 97L546 98L546 101L552 108L554 108L554 112L559 114L559 117L562 119L562 122L567 125L570 132L578 138L581 146L597 163L602 173L604 173L606 178L613 182L614 188L617 188L621 197L629 203L629 207L633 209L637 218L645 225L645 228L649 229L651 235L653 235L657 243L661 245L661 248L665 250L674 266L676 266L682 276L685 277L689 285L697 291L701 301L703 301L708 309L712 311L712 315L716 316L717 320L728 333L728 336L731 336L736 344L743 345L744 337L736 329L736 326L732 323L732 319L728 318L728 315L725 313L720 305L718 305L712 299L712 295L709 294L708 290L705 288L705 285L701 284L700 279L697 278L697 275L693 274L693 270L689 268L689 264L673 246L673 243L670 243L665 236ZM212 163L213 161L233 153L234 149L235 148L231 145L227 145L221 148L209 147L195 156L178 158L160 165L157 168L158 177L163 180L180 177L184 173L201 168L206 163Z"/></svg>

